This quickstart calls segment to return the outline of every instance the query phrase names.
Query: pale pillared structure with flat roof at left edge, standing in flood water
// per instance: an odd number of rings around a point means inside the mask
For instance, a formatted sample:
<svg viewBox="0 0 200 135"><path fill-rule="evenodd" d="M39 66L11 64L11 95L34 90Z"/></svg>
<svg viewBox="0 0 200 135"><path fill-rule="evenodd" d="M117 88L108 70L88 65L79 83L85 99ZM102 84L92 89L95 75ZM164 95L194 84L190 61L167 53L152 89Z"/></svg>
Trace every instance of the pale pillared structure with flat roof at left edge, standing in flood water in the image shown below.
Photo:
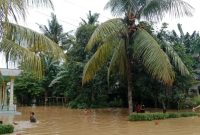
<svg viewBox="0 0 200 135"><path fill-rule="evenodd" d="M19 69L0 68L0 111L16 111L14 80L21 72Z"/></svg>

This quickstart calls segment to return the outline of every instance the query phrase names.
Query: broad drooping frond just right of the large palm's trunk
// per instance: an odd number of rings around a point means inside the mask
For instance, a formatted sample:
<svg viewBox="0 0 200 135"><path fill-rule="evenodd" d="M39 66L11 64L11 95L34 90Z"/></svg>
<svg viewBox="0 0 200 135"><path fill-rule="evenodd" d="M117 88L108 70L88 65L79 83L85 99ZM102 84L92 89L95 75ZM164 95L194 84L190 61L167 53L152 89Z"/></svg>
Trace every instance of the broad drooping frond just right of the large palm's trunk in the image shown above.
<svg viewBox="0 0 200 135"><path fill-rule="evenodd" d="M157 41L144 29L138 29L133 40L134 57L142 60L146 70L154 78L171 86L175 75L167 55Z"/></svg>

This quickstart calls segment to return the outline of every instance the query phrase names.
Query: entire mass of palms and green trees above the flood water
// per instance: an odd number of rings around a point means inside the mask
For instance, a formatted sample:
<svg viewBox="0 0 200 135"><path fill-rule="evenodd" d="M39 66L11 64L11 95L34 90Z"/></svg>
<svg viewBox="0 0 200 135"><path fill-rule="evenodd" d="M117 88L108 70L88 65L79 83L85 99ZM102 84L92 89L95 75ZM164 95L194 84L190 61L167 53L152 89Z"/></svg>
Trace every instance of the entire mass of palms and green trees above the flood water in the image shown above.
<svg viewBox="0 0 200 135"><path fill-rule="evenodd" d="M38 2L36 7L51 7L49 0ZM23 9L18 6L13 8ZM0 51L24 70L15 81L17 104L43 105L47 97L64 97L71 108L129 107L130 113L138 103L167 109L199 105L191 89L200 78L199 33L184 32L181 24L178 31L169 31L166 23L155 30L151 22L166 13L190 16L193 8L182 0L110 0L106 8L124 18L100 24L100 15L89 11L74 32L64 32L52 14L48 25L39 25L43 34L9 20L9 27L1 24L6 31Z"/></svg>

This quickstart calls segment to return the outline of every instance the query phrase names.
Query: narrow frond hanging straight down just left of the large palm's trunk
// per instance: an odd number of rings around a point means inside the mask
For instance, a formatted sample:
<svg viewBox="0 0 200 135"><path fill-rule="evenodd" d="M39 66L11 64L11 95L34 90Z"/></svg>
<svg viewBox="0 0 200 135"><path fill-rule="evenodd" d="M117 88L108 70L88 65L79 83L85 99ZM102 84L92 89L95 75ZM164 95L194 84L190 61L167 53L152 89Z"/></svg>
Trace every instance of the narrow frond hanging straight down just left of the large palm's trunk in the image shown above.
<svg viewBox="0 0 200 135"><path fill-rule="evenodd" d="M126 51L124 41L121 40L119 45L115 47L110 65L108 68L107 80L109 83L109 78L111 72L119 70L119 74L124 77L126 75Z"/></svg>

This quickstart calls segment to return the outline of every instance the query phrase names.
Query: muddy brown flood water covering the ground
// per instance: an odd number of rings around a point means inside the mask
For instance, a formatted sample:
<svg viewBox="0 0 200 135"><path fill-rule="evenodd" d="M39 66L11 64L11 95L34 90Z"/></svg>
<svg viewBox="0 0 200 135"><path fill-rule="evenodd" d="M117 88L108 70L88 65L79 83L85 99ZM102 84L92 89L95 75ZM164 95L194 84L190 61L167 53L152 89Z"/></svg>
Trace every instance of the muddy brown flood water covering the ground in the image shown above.
<svg viewBox="0 0 200 135"><path fill-rule="evenodd" d="M17 110L22 114L13 119L0 116L17 123L13 135L200 135L199 117L129 122L124 109L85 112L64 107L22 107ZM29 122L30 111L36 114L36 124Z"/></svg>

